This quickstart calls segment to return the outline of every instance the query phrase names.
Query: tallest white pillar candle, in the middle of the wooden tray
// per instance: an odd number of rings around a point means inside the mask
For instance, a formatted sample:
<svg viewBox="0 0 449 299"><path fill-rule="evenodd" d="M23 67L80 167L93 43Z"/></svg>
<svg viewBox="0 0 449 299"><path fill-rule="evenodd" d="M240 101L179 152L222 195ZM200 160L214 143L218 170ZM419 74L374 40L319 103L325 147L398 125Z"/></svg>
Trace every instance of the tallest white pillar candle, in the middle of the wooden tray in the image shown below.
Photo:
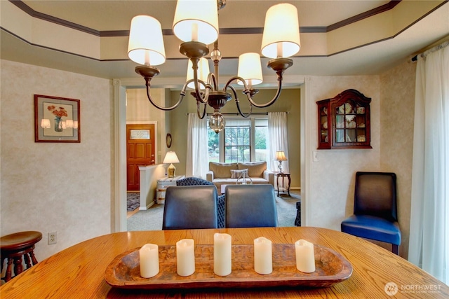
<svg viewBox="0 0 449 299"><path fill-rule="evenodd" d="M232 237L228 234L213 235L213 272L220 276L231 274Z"/></svg>

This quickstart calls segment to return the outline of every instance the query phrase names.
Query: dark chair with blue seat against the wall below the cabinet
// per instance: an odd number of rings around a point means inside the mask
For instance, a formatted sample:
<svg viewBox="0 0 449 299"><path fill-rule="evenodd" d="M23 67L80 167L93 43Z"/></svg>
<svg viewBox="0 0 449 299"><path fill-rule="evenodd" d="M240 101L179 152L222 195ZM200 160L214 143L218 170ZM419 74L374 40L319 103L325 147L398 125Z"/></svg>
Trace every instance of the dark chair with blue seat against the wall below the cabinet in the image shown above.
<svg viewBox="0 0 449 299"><path fill-rule="evenodd" d="M341 223L342 232L391 244L398 254L401 230L396 207L396 174L357 172L354 215Z"/></svg>

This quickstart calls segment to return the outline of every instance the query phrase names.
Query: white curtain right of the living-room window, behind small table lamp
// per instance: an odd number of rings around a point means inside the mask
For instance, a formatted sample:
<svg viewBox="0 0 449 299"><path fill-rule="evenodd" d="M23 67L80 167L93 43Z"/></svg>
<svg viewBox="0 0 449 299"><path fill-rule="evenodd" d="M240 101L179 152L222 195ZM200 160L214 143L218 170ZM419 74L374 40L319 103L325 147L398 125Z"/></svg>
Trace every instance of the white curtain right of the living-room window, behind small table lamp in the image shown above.
<svg viewBox="0 0 449 299"><path fill-rule="evenodd" d="M282 162L283 172L289 172L286 112L268 113L268 139L269 161L267 161L267 169L271 169L272 172L279 172L279 162L275 160L276 151L283 151L287 158L287 161Z"/></svg>

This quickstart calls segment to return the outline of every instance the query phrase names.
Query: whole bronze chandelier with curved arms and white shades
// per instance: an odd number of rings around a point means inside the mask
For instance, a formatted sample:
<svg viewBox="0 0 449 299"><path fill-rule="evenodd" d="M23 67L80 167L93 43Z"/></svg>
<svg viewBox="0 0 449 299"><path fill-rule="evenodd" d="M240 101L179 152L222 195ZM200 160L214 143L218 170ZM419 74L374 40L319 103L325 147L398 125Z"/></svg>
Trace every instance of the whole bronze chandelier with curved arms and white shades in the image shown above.
<svg viewBox="0 0 449 299"><path fill-rule="evenodd" d="M196 99L196 114L203 119L206 106L213 108L209 126L215 133L225 127L220 109L232 99L239 114L248 117L253 106L265 108L276 102L282 89L283 72L293 65L290 56L300 50L300 30L297 9L292 4L276 4L269 8L265 16L261 53L272 58L267 67L277 74L278 87L273 99L265 104L257 104L253 96L258 92L253 85L262 83L262 67L258 53L245 53L239 56L237 76L227 81L220 90L218 87L218 64L222 58L218 50L218 11L226 4L225 0L177 0L173 33L182 41L180 53L189 58L187 81L180 92L180 98L173 106L163 107L156 104L149 94L150 81L160 71L155 66L166 60L163 46L161 23L148 15L137 15L131 20L128 42L128 57L141 64L135 67L136 73L145 78L147 97L157 109L170 111L179 106L186 95L187 88ZM209 72L208 62L204 58L209 53L208 45L214 43L210 59L214 71ZM239 97L233 83L243 85L243 94L250 103L248 113L243 113L239 106ZM202 108L202 109L201 109Z"/></svg>

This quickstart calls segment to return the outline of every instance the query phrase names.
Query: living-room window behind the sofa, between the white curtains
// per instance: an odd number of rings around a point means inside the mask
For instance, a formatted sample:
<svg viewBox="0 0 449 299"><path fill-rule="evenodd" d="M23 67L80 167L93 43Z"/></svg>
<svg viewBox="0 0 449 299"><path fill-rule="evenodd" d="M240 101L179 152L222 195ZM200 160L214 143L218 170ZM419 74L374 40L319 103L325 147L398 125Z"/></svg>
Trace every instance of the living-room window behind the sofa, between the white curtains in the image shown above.
<svg viewBox="0 0 449 299"><path fill-rule="evenodd" d="M268 118L226 118L225 129L208 130L210 162L267 161Z"/></svg>

